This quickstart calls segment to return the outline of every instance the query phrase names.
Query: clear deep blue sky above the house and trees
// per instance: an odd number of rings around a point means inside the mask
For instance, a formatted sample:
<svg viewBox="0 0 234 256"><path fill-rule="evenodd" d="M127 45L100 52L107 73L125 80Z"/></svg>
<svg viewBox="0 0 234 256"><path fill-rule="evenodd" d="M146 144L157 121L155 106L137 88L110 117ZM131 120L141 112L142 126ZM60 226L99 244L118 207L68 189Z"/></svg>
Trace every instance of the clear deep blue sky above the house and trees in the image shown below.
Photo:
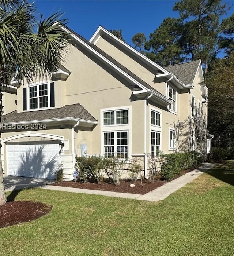
<svg viewBox="0 0 234 256"><path fill-rule="evenodd" d="M143 32L148 38L163 19L178 17L172 11L176 1L44 1L36 0L38 12L46 17L54 12L65 12L68 18L67 26L76 33L90 39L99 25L106 29L122 30L122 35L127 43L132 44L132 37ZM229 3L231 1L224 1ZM229 17L234 12L232 7L223 18Z"/></svg>

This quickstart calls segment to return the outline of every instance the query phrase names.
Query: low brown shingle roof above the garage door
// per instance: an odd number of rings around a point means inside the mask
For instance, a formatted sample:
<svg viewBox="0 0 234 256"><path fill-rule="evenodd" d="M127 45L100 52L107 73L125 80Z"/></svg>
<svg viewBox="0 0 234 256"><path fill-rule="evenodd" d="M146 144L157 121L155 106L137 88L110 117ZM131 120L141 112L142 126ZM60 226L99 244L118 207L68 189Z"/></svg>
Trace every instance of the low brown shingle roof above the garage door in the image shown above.
<svg viewBox="0 0 234 256"><path fill-rule="evenodd" d="M17 110L2 116L3 123L37 121L54 118L73 117L88 121L97 121L82 105L72 104L57 109L17 113Z"/></svg>

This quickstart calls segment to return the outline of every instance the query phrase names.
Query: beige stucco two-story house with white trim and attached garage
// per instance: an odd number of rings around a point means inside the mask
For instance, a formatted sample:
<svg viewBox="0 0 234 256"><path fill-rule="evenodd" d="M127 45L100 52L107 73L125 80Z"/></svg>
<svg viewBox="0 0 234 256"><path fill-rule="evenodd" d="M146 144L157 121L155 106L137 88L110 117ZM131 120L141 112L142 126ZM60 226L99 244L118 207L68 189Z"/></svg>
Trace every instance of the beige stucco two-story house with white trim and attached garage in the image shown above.
<svg viewBox="0 0 234 256"><path fill-rule="evenodd" d="M53 179L62 163L72 180L76 155L140 157L147 175L149 154L206 152L200 61L161 67L102 26L90 41L62 29L74 40L60 69L5 91L5 175Z"/></svg>

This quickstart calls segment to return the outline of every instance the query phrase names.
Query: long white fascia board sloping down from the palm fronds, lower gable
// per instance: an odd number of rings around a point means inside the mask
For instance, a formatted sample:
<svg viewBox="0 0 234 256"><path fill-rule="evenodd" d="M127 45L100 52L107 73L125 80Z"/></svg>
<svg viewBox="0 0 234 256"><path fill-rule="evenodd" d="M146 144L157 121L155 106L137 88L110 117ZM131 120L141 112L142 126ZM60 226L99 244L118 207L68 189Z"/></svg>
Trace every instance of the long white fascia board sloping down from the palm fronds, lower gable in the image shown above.
<svg viewBox="0 0 234 256"><path fill-rule="evenodd" d="M89 45L87 45L83 40L79 39L79 37L77 37L76 35L72 34L68 29L64 28L63 26L61 26L61 29L63 29L64 31L66 31L68 34L70 34L74 39L76 39L76 41L78 41L80 44L82 44L84 47L86 47L89 51L93 52L95 55L98 56L98 58L102 59L103 61L105 61L107 64L109 64L111 67L113 67L114 69L116 69L119 73L121 73L123 76L125 76L126 78L128 78L128 80L132 81L133 83L135 83L136 85L139 85L139 87L141 87L142 89L147 89L144 85L142 85L141 83L139 83L137 80L135 80L134 78L132 78L131 76L129 76L127 73L125 73L122 69L120 69L119 67L117 67L116 65L114 65L111 61L109 61L107 58L105 58L103 55L99 54L99 52L95 51L92 47L90 47Z"/></svg>

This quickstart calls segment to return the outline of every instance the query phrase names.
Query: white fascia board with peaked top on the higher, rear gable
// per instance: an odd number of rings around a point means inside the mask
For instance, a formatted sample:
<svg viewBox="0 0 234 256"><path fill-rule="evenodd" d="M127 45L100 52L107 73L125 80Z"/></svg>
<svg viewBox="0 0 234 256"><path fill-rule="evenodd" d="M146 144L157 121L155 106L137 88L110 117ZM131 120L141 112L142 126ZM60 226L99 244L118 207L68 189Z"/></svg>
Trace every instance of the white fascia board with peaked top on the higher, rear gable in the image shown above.
<svg viewBox="0 0 234 256"><path fill-rule="evenodd" d="M96 30L96 32L93 34L93 36L91 37L91 39L89 40L90 43L94 43L95 38L97 37L97 35L100 35L101 33L105 33L107 34L107 36L111 37L112 39L116 40L118 43L122 44L125 48L127 48L128 50L132 51L134 54L136 54L137 56L139 56L140 58L144 59L145 62L147 62L148 64L150 64L151 66L156 67L157 69L162 70L165 74L169 74L169 72L164 69L163 67L159 66L158 64L156 64L155 62L151 61L151 59L147 58L146 56L144 56L143 54L141 54L139 51L137 51L136 49L132 48L130 45L124 43L121 39L119 39L118 37L114 36L112 33L110 33L108 30L104 29L102 26L99 26L98 29ZM96 42L95 42L96 43Z"/></svg>

